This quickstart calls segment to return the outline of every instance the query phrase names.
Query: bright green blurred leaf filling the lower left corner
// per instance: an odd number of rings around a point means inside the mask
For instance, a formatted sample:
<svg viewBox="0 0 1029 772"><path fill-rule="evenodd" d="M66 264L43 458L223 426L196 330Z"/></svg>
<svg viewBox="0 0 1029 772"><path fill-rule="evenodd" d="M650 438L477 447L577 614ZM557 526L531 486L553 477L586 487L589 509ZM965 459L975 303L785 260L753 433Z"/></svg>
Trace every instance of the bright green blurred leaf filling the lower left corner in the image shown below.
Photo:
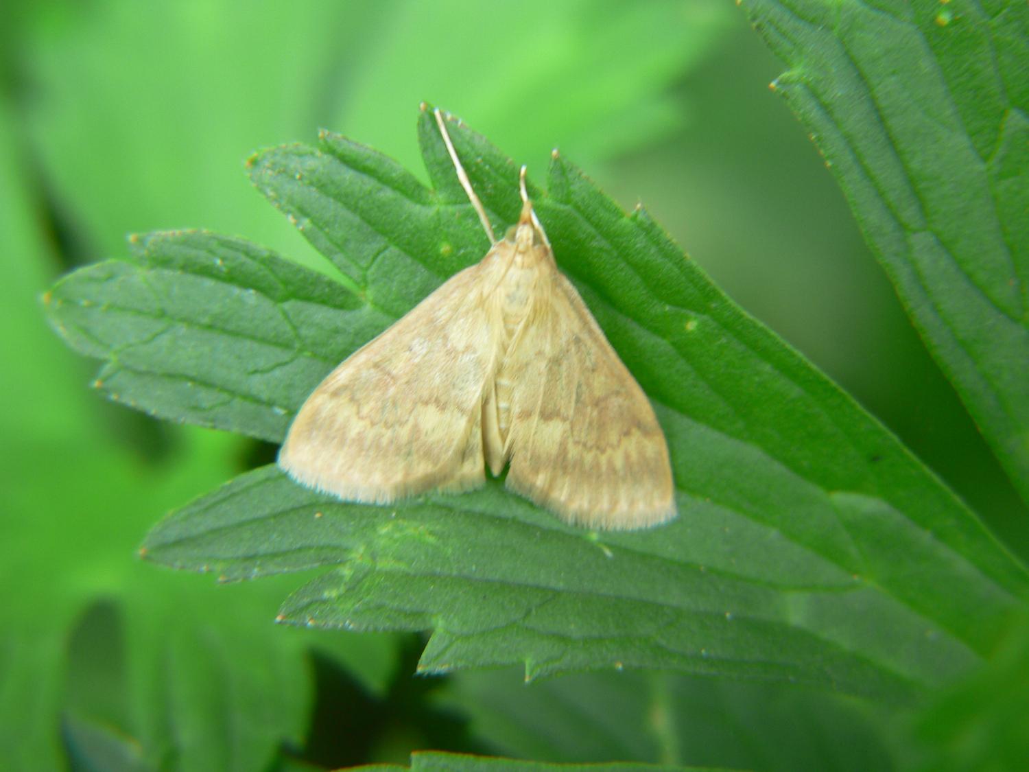
<svg viewBox="0 0 1029 772"><path fill-rule="evenodd" d="M262 769L303 737L312 645L369 688L385 680L391 648L276 629L268 618L282 586L211 593L136 558L149 521L238 468L238 442L177 430L162 462L142 458L82 388L83 362L39 312L56 260L6 107L0 100L0 356L17 366L0 375L0 767ZM83 648L78 633L100 598L121 624Z"/></svg>

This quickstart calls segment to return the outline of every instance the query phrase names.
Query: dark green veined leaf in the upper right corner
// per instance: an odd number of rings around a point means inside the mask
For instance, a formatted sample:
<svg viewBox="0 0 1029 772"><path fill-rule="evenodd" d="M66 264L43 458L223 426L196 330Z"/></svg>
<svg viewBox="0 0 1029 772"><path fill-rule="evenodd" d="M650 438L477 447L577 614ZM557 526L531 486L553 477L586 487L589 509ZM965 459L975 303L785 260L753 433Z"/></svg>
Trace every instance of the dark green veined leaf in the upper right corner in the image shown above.
<svg viewBox="0 0 1029 772"><path fill-rule="evenodd" d="M1029 9L748 0L908 314L1029 501Z"/></svg>

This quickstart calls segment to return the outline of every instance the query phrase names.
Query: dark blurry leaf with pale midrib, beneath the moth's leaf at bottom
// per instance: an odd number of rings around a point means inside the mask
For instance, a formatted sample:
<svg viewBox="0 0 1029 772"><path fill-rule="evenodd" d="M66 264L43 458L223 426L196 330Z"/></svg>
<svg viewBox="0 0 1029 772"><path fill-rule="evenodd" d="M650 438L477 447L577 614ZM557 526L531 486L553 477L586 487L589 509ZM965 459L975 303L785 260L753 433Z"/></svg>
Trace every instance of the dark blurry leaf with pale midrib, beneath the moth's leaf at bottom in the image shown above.
<svg viewBox="0 0 1029 772"><path fill-rule="evenodd" d="M870 706L853 698L666 673L575 673L529 685L519 675L458 673L441 698L445 707L467 713L475 739L502 756L762 772L896 767Z"/></svg>

